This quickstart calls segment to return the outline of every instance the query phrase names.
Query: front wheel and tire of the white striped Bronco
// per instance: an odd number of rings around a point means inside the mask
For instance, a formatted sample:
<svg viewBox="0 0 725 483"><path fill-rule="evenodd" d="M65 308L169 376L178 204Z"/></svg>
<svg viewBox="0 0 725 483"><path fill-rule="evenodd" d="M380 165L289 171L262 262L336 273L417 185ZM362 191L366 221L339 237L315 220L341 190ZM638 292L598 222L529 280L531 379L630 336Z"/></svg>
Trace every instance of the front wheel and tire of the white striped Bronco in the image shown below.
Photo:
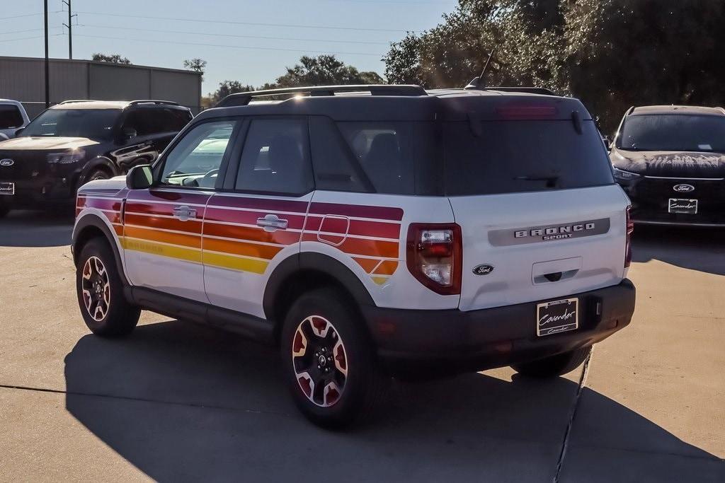
<svg viewBox="0 0 725 483"><path fill-rule="evenodd" d="M115 258L106 240L93 238L83 245L75 269L78 307L88 329L102 337L130 334L141 316L123 295Z"/></svg>

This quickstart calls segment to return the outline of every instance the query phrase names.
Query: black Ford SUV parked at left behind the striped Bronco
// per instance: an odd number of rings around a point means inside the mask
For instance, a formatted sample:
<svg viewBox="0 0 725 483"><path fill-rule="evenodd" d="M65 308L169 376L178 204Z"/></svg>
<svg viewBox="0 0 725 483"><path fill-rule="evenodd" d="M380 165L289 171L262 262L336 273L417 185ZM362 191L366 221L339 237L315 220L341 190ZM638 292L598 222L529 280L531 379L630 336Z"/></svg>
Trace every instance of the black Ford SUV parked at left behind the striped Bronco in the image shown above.
<svg viewBox="0 0 725 483"><path fill-rule="evenodd" d="M157 159L191 120L170 101L65 101L0 142L0 216L72 203L84 183Z"/></svg>

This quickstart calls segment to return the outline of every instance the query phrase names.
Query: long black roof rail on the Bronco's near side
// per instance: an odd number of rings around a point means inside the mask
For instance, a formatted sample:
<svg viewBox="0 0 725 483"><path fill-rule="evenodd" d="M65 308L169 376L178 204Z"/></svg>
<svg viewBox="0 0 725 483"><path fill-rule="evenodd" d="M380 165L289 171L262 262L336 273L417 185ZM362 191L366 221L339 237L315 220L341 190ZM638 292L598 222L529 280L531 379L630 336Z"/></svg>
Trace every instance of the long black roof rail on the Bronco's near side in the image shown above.
<svg viewBox="0 0 725 483"><path fill-rule="evenodd" d="M309 96L334 96L338 92L369 92L373 96L427 96L420 85L318 85L315 87L291 87L267 91L249 91L230 94L215 107L247 106L254 97L308 94Z"/></svg>

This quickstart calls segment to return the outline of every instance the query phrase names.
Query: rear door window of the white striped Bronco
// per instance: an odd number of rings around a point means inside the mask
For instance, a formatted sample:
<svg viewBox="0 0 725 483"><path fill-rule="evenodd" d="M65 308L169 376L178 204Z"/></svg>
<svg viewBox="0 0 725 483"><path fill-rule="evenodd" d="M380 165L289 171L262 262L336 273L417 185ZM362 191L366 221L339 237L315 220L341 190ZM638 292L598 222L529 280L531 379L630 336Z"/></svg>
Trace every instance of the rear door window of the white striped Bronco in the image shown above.
<svg viewBox="0 0 725 483"><path fill-rule="evenodd" d="M302 194L312 190L305 119L253 119L239 161L236 190Z"/></svg>

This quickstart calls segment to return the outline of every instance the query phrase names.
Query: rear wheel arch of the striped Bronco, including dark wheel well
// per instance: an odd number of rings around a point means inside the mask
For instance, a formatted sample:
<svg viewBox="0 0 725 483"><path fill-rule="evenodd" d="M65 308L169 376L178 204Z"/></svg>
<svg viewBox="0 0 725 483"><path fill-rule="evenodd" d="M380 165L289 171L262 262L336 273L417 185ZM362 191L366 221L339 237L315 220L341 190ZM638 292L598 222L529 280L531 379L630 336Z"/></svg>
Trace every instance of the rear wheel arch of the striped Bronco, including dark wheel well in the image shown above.
<svg viewBox="0 0 725 483"><path fill-rule="evenodd" d="M265 318L275 324L275 337L297 295L328 286L340 290L356 308L375 305L363 282L340 261L323 253L299 253L276 267L262 298Z"/></svg>

